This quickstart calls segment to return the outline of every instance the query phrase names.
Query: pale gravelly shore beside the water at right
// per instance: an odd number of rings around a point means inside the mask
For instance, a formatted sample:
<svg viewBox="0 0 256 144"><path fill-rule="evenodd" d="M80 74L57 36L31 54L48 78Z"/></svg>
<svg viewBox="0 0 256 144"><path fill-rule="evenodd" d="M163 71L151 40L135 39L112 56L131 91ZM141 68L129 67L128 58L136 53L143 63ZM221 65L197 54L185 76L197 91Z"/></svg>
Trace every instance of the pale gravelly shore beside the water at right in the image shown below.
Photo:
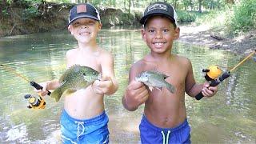
<svg viewBox="0 0 256 144"><path fill-rule="evenodd" d="M212 38L215 34L209 26L180 26L181 34L178 41L199 46L208 46L210 49L229 50L236 54L248 54L256 50L256 30L250 31L236 38Z"/></svg>

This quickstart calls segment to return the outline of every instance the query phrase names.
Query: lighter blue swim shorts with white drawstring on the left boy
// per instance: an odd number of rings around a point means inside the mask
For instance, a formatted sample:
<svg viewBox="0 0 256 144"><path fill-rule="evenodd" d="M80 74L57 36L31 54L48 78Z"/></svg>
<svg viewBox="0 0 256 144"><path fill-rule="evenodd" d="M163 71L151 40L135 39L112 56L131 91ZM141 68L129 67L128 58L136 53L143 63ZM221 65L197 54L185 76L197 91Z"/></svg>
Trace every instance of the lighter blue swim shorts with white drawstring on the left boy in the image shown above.
<svg viewBox="0 0 256 144"><path fill-rule="evenodd" d="M66 110L62 111L61 131L63 143L108 143L109 130L107 127L109 118L105 111L90 119L79 120L71 118Z"/></svg>

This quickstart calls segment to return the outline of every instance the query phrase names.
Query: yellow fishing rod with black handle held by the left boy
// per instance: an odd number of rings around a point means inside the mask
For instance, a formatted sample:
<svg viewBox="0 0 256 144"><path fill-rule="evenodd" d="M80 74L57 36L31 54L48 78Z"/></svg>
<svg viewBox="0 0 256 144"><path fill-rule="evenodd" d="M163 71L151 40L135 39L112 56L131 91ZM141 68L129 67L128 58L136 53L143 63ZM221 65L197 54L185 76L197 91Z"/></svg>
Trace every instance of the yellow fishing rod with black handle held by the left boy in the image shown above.
<svg viewBox="0 0 256 144"><path fill-rule="evenodd" d="M2 65L2 64L1 64L0 66L2 66L2 68L4 68L5 70L12 72L12 73L15 74L16 76L18 76L18 77L24 79L26 82L30 82L30 85L33 86L35 89L37 89L37 90L42 90L42 86L40 86L37 82L30 81L28 78L26 78L26 77L23 76L22 74L18 74L18 73L16 72L16 70L14 70L14 69L12 69L12 68L10 68L10 67L8 67L8 66L4 66L4 65ZM51 92L50 92L49 90L47 90L47 91L48 91L47 94L50 95Z"/></svg>

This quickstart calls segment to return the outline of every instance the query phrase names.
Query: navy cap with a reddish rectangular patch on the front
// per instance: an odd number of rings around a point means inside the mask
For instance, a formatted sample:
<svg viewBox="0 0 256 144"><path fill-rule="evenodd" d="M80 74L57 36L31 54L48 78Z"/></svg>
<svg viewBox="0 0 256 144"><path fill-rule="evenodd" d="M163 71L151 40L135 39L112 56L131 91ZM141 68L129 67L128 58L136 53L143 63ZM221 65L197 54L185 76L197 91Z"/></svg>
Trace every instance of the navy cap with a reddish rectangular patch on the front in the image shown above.
<svg viewBox="0 0 256 144"><path fill-rule="evenodd" d="M68 26L78 18L92 18L96 21L101 21L98 10L89 3L78 4L70 10Z"/></svg>

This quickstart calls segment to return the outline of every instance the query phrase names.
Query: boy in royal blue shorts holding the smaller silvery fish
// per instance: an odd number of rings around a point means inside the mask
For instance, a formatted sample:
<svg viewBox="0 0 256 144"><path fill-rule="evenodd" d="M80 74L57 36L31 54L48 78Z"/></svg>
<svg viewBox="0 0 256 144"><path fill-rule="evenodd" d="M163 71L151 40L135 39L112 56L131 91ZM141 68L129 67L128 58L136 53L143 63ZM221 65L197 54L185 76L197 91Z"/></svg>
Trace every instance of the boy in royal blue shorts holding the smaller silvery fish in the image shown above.
<svg viewBox="0 0 256 144"><path fill-rule="evenodd" d="M150 54L131 66L129 85L122 98L123 106L134 111L145 103L139 126L142 143L190 143L185 92L195 97L202 91L205 97L212 97L217 87L209 87L207 82L197 84L190 60L171 53L180 32L173 6L166 2L150 4L140 23L143 25L142 38L150 48ZM174 94L166 88L150 91L142 82L135 81L135 77L146 70L170 76L165 80L176 88Z"/></svg>

